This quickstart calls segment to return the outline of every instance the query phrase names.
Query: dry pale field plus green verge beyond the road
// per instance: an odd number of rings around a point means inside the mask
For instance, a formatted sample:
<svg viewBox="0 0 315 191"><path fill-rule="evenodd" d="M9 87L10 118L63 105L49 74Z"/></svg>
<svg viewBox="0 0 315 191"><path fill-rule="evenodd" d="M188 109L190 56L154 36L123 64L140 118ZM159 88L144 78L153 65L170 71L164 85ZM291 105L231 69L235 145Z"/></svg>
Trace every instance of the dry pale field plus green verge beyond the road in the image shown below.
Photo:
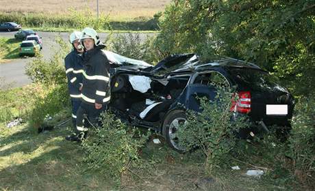
<svg viewBox="0 0 315 191"><path fill-rule="evenodd" d="M0 23L10 21L23 27L53 27L62 28L62 31L68 31L67 28L88 26L104 30L155 31L159 29L157 18L162 15L160 13L171 0L99 0L99 18L95 10L95 2L66 0L60 6L55 0L41 1L41 3L30 0L27 5L2 1L4 5L2 7L5 9L0 8Z"/></svg>

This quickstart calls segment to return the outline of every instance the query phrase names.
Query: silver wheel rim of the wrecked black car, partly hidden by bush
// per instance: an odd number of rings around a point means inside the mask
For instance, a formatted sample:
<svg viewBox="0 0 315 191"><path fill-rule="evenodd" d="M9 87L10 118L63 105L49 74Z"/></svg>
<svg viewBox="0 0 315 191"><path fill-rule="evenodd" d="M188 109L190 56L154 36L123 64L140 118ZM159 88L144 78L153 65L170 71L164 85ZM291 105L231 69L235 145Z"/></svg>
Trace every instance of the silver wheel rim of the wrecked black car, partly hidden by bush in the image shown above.
<svg viewBox="0 0 315 191"><path fill-rule="evenodd" d="M173 147L181 151L184 151L185 148L179 145L179 138L177 137L177 130L179 126L185 122L186 122L186 119L184 117L177 117L173 119L173 121L170 124L170 127L168 128L168 136L170 138L170 141Z"/></svg>

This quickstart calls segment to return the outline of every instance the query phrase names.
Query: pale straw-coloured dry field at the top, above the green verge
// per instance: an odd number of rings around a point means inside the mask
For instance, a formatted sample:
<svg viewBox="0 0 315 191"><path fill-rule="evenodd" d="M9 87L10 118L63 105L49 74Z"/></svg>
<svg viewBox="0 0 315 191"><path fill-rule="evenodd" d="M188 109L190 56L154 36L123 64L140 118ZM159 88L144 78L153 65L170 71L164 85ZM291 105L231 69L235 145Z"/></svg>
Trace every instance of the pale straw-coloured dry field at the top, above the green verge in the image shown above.
<svg viewBox="0 0 315 191"><path fill-rule="evenodd" d="M162 11L165 5L171 0L99 0L99 12L109 14L115 21L137 18L140 16L152 17L158 11ZM62 4L58 0L43 0L38 3L36 0L29 0L21 3L18 0L1 1L1 12L32 12L44 14L64 14L70 8L83 10L89 8L92 14L97 14L97 1L64 0Z"/></svg>

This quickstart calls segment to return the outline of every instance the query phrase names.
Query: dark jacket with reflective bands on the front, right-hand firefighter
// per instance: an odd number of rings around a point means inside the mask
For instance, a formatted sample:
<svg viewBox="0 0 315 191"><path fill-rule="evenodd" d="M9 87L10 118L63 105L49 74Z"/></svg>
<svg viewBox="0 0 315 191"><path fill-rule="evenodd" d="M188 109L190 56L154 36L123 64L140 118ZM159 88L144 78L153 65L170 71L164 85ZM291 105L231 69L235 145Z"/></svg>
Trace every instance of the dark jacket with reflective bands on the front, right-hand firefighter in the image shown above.
<svg viewBox="0 0 315 191"><path fill-rule="evenodd" d="M107 104L110 101L110 63L103 52L105 46L88 50L83 54L83 88L81 98L88 104Z"/></svg>

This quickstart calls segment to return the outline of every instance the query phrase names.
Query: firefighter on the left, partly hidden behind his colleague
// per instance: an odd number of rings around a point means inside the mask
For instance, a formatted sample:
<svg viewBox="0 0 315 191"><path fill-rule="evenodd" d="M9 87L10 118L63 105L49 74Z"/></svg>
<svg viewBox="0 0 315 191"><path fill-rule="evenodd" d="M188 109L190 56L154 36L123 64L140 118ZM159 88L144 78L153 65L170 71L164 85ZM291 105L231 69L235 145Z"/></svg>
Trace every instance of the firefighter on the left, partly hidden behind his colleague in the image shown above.
<svg viewBox="0 0 315 191"><path fill-rule="evenodd" d="M66 55L64 65L66 67L66 78L68 80L68 91L70 93L72 105L72 121L74 128L76 127L76 113L81 104L81 87L82 87L82 53L84 52L83 46L80 44L81 32L74 31L71 33L69 41L73 45L71 53ZM66 136L68 140L70 136Z"/></svg>

